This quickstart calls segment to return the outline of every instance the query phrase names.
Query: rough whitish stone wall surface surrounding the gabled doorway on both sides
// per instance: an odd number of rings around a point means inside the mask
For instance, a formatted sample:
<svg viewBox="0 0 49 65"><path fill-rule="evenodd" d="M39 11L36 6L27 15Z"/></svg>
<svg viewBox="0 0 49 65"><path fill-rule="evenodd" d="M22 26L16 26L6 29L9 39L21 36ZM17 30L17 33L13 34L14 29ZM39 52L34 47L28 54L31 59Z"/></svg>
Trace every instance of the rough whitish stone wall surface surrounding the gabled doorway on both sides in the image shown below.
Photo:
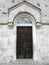
<svg viewBox="0 0 49 65"><path fill-rule="evenodd" d="M0 23L12 21L11 18L14 13L10 13L8 17L8 8L23 0L0 0ZM44 23L49 23L49 0L27 0L29 3L41 8L41 19ZM29 7L21 6L22 11L31 11ZM18 8L21 11L21 7ZM28 10L27 10L28 9ZM16 9L17 10L17 9ZM17 12L15 13L18 13ZM15 11L15 10L14 10ZM12 11L13 12L13 11ZM32 12L34 13L34 12ZM10 18L10 19L9 19ZM39 20L40 21L40 20ZM0 63L14 62L16 60L16 31L15 27L9 29L6 25L0 26ZM49 63L49 26L42 26L40 29L36 28L36 44L37 44L37 60L41 63ZM37 65L37 64L36 64Z"/></svg>

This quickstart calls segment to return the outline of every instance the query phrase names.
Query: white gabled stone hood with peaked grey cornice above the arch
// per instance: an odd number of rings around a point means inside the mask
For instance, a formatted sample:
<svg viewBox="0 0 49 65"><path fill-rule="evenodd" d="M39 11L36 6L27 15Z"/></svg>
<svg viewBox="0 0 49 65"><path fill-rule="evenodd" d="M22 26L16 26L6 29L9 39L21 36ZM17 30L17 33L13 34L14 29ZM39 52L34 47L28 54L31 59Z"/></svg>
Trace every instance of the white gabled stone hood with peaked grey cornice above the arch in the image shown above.
<svg viewBox="0 0 49 65"><path fill-rule="evenodd" d="M22 8L22 9L21 9ZM36 18L36 22L40 22L41 20L41 9L34 6L33 4L23 1L21 3L18 3L8 9L8 20L9 22L13 22L14 17L19 12L29 12Z"/></svg>

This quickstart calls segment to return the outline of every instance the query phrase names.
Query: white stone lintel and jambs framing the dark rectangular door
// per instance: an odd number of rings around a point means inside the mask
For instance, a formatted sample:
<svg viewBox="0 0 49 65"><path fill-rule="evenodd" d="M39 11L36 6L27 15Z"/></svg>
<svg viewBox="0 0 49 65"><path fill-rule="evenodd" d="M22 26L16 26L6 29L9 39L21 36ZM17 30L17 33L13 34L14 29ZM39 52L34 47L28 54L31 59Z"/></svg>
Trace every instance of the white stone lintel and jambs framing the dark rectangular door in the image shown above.
<svg viewBox="0 0 49 65"><path fill-rule="evenodd" d="M35 54L36 54L36 52L35 52L35 42L36 42L36 38L35 38L35 34L36 34L36 32L35 32L35 26L33 26L32 24L30 25L30 24L17 24L17 26L16 26L16 31L17 31L17 27L18 26L31 26L32 27L32 42L33 42L33 60L35 59ZM17 42L17 33L16 33L16 42ZM16 45L17 45L17 43L16 43ZM17 50L17 49L16 49ZM17 59L17 58L16 58Z"/></svg>

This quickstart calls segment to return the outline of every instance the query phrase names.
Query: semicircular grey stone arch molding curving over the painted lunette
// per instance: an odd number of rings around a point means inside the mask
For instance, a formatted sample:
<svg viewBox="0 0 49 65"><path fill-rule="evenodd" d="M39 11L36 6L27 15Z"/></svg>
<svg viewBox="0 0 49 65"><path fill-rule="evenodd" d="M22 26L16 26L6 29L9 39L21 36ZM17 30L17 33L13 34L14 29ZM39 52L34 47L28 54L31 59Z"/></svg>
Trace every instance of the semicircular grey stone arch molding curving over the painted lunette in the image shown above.
<svg viewBox="0 0 49 65"><path fill-rule="evenodd" d="M13 19L13 23L15 22L15 19L17 19L17 18L19 19L19 17L21 17L21 16L23 17L24 15L25 15L25 16L27 15L26 17L28 17L28 18L31 17L31 19L34 20L34 24L35 24L36 19L35 19L34 15L32 15L32 14L29 13L29 12L25 12L25 11L24 11L24 12L19 12L18 14L16 14L15 17L14 17L14 19ZM30 18L29 18L29 19L30 19Z"/></svg>

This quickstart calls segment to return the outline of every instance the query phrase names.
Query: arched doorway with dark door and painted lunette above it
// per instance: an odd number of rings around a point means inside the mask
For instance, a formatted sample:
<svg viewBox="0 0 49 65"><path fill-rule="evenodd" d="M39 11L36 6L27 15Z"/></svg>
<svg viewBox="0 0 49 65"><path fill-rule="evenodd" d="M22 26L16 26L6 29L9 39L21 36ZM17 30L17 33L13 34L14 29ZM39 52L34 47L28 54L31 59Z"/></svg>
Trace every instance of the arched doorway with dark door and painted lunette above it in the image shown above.
<svg viewBox="0 0 49 65"><path fill-rule="evenodd" d="M14 18L16 25L16 59L33 59L35 56L35 18L20 12Z"/></svg>

